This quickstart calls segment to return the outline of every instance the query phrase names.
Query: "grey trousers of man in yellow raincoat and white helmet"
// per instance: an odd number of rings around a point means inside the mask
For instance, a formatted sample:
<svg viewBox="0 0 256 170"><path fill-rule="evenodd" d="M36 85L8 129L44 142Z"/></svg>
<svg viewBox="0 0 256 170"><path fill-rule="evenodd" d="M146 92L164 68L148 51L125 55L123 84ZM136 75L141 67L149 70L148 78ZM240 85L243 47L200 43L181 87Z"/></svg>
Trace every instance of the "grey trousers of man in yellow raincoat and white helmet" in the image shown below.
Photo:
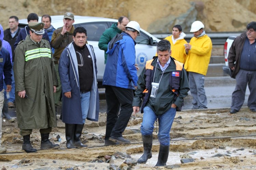
<svg viewBox="0 0 256 170"><path fill-rule="evenodd" d="M193 107L192 109L205 109L207 108L207 98L204 90L204 75L189 72L188 80L189 80L189 88L190 93L193 97Z"/></svg>

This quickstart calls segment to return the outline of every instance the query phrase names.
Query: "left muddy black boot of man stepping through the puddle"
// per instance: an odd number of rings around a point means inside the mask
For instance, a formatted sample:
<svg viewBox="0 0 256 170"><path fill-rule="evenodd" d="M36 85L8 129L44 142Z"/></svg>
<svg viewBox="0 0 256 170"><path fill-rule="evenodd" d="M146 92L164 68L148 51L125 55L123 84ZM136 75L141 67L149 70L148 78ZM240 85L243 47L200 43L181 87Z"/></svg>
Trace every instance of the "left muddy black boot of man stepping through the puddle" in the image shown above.
<svg viewBox="0 0 256 170"><path fill-rule="evenodd" d="M142 135L143 141L143 155L137 160L139 164L145 164L148 159L152 157L151 149L153 143L153 136L152 135Z"/></svg>

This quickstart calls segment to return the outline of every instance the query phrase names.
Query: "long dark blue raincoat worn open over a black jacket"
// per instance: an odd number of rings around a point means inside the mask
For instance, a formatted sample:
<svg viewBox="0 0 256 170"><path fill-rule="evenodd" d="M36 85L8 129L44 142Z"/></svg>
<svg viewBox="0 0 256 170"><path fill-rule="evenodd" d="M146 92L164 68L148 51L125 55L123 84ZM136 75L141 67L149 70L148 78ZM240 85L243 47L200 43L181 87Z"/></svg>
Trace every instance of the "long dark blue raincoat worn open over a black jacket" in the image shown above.
<svg viewBox="0 0 256 170"><path fill-rule="evenodd" d="M90 106L87 119L98 121L99 117L99 94L97 87L97 66L94 49L86 44L93 62L93 83L90 95ZM78 63L76 51L70 43L62 52L59 60L59 78L62 84L62 122L68 124L83 124L82 108L80 101L80 84L78 74ZM71 98L67 98L64 93L71 92Z"/></svg>

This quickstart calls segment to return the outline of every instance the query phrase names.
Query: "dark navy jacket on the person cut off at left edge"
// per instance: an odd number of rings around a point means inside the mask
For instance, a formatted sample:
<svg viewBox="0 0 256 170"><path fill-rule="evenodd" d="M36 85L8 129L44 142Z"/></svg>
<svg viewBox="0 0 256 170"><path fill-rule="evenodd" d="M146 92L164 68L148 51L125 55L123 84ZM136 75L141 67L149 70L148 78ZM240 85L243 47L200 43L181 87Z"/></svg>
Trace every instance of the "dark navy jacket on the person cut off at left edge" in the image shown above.
<svg viewBox="0 0 256 170"><path fill-rule="evenodd" d="M12 83L12 64L9 52L2 47L0 50L0 91L3 90L3 75L4 82L6 85L11 85Z"/></svg>

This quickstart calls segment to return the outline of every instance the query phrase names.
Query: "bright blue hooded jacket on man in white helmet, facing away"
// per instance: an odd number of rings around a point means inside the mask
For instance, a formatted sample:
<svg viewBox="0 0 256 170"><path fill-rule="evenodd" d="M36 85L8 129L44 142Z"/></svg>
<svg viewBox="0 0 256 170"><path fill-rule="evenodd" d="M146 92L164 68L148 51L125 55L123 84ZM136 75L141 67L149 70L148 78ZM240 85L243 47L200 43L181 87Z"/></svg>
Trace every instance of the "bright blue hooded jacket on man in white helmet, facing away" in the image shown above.
<svg viewBox="0 0 256 170"><path fill-rule="evenodd" d="M137 86L135 44L130 34L117 34L108 44L103 85L134 89Z"/></svg>

